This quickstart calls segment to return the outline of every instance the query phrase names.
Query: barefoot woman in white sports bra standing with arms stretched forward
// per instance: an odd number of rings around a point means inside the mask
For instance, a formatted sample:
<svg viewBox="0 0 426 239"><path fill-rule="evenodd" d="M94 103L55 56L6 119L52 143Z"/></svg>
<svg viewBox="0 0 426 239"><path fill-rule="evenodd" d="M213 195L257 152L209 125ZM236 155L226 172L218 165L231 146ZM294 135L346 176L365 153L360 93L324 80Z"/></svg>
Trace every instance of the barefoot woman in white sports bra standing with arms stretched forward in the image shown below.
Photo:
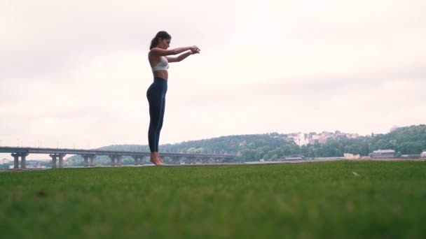
<svg viewBox="0 0 426 239"><path fill-rule="evenodd" d="M170 47L170 36L166 31L159 31L152 39L149 47L149 64L151 65L154 82L146 92L146 98L149 102L149 131L148 142L151 157L149 161L155 165L165 165L163 159L158 154L158 140L160 139L160 131L163 126L164 109L165 109L165 93L167 92L167 79L169 74L169 62L179 62L186 59L189 55L200 53L200 49L195 45L184 48ZM179 55L184 52L184 54ZM177 55L177 56L172 56Z"/></svg>

